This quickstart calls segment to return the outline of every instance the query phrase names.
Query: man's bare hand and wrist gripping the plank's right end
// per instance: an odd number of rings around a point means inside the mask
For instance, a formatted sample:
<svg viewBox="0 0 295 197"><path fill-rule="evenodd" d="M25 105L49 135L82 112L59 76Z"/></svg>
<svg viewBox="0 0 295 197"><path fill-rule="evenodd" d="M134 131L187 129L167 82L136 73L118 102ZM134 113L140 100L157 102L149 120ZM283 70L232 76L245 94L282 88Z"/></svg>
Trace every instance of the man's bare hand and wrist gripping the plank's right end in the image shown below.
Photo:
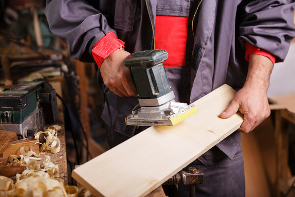
<svg viewBox="0 0 295 197"><path fill-rule="evenodd" d="M219 116L229 118L237 111L244 115L244 121L238 131L250 132L270 115L266 96L272 62L264 56L249 56L249 68L246 82L231 104Z"/></svg>

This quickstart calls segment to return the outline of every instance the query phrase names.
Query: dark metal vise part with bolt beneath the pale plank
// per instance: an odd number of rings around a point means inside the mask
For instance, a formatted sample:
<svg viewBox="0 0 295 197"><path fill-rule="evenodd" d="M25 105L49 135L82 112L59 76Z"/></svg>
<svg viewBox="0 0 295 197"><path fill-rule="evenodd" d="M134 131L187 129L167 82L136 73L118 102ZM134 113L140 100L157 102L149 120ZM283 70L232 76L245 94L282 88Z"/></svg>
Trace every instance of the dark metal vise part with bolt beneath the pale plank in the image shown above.
<svg viewBox="0 0 295 197"><path fill-rule="evenodd" d="M189 196L195 197L195 185L202 184L203 180L204 174L201 170L197 170L196 167L188 167L188 172L181 170L163 183L163 185L190 185Z"/></svg>

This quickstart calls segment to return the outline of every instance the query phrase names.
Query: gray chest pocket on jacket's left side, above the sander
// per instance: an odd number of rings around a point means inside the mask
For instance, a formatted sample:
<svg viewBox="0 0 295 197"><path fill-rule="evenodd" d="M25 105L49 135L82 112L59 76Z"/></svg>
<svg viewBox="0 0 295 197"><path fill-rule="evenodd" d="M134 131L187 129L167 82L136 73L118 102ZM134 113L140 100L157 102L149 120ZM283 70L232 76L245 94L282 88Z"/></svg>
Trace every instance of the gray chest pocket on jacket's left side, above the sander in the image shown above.
<svg viewBox="0 0 295 197"><path fill-rule="evenodd" d="M137 0L117 0L114 18L114 28L132 31Z"/></svg>

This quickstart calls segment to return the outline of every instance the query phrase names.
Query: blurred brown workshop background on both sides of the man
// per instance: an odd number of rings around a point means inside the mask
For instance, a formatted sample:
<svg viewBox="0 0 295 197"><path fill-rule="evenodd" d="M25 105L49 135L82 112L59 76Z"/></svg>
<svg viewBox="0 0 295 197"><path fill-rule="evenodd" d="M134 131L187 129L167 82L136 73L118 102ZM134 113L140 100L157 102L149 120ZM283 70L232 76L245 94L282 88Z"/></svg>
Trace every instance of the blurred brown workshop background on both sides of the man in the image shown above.
<svg viewBox="0 0 295 197"><path fill-rule="evenodd" d="M70 58L66 46L50 32L44 5L45 0L0 0L0 93L36 78L61 84L68 180L75 184L70 177L74 166L109 149L100 117L103 97L93 65ZM246 196L292 197L295 41L285 62L275 64L267 95L271 116L255 131L241 136Z"/></svg>

